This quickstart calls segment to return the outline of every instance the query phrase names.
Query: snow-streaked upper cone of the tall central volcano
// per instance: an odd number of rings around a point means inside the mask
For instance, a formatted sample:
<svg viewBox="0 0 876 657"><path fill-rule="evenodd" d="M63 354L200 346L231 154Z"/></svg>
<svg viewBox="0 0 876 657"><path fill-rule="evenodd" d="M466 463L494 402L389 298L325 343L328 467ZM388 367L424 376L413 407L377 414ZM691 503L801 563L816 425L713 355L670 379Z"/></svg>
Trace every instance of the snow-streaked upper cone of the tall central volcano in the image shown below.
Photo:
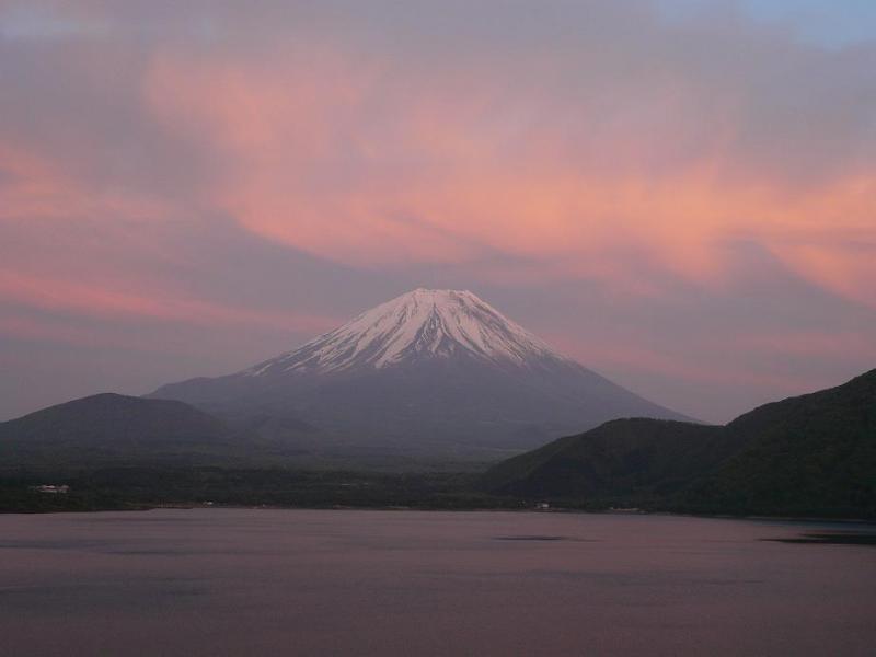
<svg viewBox="0 0 876 657"><path fill-rule="evenodd" d="M563 360L541 339L468 290L418 288L243 373L381 369L453 356L495 365Z"/></svg>

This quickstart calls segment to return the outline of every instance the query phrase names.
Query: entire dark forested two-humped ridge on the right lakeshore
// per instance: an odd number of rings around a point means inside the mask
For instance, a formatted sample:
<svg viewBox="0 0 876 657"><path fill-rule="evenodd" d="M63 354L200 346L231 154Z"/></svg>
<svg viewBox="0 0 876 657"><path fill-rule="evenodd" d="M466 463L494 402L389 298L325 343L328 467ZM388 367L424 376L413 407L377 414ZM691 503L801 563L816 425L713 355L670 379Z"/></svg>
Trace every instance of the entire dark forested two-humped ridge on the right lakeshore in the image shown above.
<svg viewBox="0 0 876 657"><path fill-rule="evenodd" d="M876 370L724 427L624 419L509 459L508 495L701 511L876 514Z"/></svg>

